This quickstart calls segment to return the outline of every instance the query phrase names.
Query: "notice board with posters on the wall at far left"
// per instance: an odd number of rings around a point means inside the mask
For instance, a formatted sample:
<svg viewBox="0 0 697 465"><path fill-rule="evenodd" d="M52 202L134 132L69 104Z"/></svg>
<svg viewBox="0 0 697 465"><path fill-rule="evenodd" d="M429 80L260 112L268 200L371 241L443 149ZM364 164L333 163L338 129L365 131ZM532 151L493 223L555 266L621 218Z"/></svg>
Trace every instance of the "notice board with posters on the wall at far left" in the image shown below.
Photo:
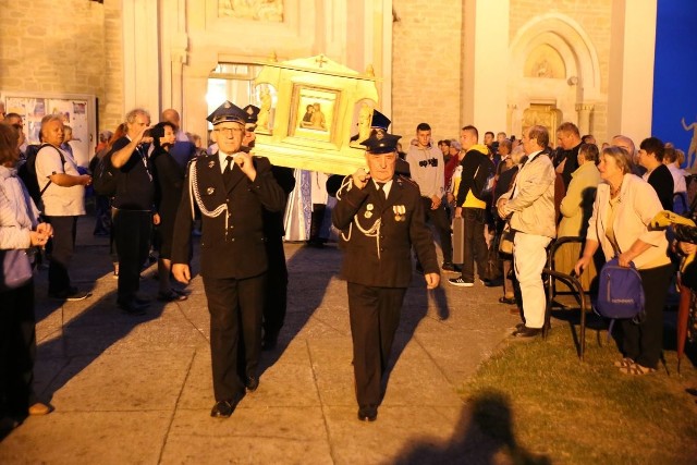
<svg viewBox="0 0 697 465"><path fill-rule="evenodd" d="M77 164L87 167L95 152L97 136L97 106L93 95L38 94L25 91L0 91L5 113L17 113L24 120L27 144L39 144L41 118L57 113L63 123L73 129L70 142Z"/></svg>

